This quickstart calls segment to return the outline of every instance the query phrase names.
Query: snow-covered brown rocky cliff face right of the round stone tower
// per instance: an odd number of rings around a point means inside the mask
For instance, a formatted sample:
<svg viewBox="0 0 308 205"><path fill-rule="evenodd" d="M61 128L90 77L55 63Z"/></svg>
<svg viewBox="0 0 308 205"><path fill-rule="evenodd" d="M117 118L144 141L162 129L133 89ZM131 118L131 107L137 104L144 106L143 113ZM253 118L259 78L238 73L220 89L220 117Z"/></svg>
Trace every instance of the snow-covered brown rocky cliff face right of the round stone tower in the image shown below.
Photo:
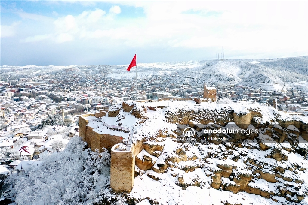
<svg viewBox="0 0 308 205"><path fill-rule="evenodd" d="M175 123L187 123L196 129L198 124L204 122L239 127L234 122L234 116L247 116L248 113L249 124L252 123L250 128L258 129L259 134L237 143L178 144L172 138L177 132ZM143 150L137 158L144 160L144 156L150 155L149 159L156 157L156 161L151 169L145 171L145 175L140 172L136 174L135 185L127 199L135 203L152 200L151 203L185 204L187 198L184 196L180 203L175 198L169 201L168 196L176 194L173 190L179 188L185 195L189 195L191 190L208 195L209 188L215 188L221 190L221 195L228 193L235 199L233 201L243 204L250 201L264 204L266 198L272 203L305 201L308 194L308 163L303 157L307 149L301 136L303 124L300 121L298 126L292 116L256 104L164 108L161 118L152 120L136 136L144 140ZM204 128L201 126L200 130ZM156 155L157 152L159 155ZM146 185L148 183L151 188ZM169 187L168 190L164 186ZM151 194L152 191L146 194L146 189L157 192L155 195ZM240 198L244 195L249 196L245 202ZM232 204L228 198L222 197L219 203Z"/></svg>

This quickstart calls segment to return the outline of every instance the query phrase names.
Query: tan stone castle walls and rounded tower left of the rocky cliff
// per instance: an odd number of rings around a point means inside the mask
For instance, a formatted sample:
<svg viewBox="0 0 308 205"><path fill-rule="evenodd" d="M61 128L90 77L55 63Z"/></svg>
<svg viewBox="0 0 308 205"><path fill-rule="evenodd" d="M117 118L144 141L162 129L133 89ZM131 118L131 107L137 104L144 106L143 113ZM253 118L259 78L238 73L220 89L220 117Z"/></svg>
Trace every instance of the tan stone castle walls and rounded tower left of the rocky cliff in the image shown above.
<svg viewBox="0 0 308 205"><path fill-rule="evenodd" d="M131 115L139 117L141 120L144 118L142 113L143 107L136 107L133 109L136 103L122 103L121 108L125 112L130 112ZM108 111L108 116L116 116L119 114L119 109L111 108ZM137 113L138 112L138 113ZM141 113L141 114L140 114ZM132 143L129 150L120 151L121 136L129 133L120 132L117 130L103 129L101 121L96 121L97 117L94 114L85 114L79 116L79 136L83 138L83 141L87 142L92 151L96 149L99 152L102 148L106 148L111 151L111 168L110 168L110 187L115 192L130 192L134 185L135 177L135 156L137 156L142 150L142 142L137 141ZM116 135L118 132L118 136Z"/></svg>

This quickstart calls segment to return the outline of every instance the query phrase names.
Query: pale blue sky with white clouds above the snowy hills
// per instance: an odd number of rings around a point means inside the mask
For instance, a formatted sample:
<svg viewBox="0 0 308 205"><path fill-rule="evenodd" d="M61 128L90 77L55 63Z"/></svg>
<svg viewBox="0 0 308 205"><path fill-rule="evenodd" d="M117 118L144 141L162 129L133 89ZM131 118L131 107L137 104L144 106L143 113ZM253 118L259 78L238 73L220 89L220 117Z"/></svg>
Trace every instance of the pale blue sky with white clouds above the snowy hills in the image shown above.
<svg viewBox="0 0 308 205"><path fill-rule="evenodd" d="M308 53L308 1L1 1L1 65L122 65Z"/></svg>

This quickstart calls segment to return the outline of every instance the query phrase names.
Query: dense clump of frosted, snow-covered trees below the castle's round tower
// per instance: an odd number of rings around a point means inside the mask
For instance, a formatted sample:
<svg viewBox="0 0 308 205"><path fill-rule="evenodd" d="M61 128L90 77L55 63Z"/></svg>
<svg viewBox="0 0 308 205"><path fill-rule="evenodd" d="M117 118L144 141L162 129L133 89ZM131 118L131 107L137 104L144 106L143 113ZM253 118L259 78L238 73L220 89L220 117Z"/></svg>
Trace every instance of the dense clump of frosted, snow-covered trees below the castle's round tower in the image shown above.
<svg viewBox="0 0 308 205"><path fill-rule="evenodd" d="M63 152L54 152L42 164L10 176L18 204L102 204L110 180L110 154L84 148L73 137ZM99 199L98 199L99 198Z"/></svg>

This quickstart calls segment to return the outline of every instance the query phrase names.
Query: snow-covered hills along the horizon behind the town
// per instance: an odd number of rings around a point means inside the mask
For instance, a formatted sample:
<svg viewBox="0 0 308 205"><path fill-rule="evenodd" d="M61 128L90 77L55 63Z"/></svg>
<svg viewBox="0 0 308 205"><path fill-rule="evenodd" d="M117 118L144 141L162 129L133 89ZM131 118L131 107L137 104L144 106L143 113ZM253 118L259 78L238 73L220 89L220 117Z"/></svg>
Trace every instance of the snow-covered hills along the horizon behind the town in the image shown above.
<svg viewBox="0 0 308 205"><path fill-rule="evenodd" d="M70 66L1 66L1 79L16 79L43 74L68 73L79 75L101 74L103 77L132 79L135 68L126 71L128 65L70 65ZM278 59L240 59L181 61L161 63L138 63L138 78L157 76L171 77L174 83L189 83L193 86L207 84L241 83L254 87L281 89L307 87L308 56ZM187 78L190 77L190 78Z"/></svg>

